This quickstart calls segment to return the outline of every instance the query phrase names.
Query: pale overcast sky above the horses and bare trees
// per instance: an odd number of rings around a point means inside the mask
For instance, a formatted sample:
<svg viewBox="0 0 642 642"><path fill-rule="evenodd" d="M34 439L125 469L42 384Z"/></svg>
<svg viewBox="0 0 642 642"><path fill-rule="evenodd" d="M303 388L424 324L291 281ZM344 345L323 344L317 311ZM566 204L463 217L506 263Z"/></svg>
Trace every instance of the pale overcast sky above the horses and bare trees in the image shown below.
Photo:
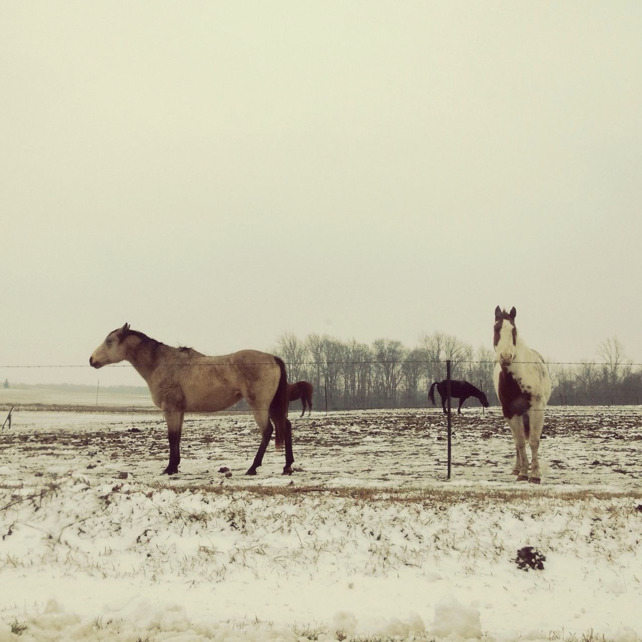
<svg viewBox="0 0 642 642"><path fill-rule="evenodd" d="M129 322L642 361L642 3L0 1L0 366ZM143 383L132 369L0 369Z"/></svg>

